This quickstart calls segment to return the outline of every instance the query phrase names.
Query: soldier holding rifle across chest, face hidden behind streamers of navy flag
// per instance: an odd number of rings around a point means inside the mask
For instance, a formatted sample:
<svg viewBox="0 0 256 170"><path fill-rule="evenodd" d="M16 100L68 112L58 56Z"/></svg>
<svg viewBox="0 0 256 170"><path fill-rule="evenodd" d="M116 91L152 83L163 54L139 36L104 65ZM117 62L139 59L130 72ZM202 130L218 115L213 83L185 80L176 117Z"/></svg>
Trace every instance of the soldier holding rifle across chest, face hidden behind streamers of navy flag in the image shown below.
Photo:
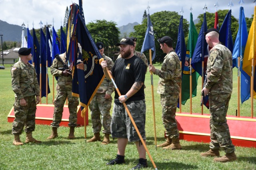
<svg viewBox="0 0 256 170"><path fill-rule="evenodd" d="M66 62L66 53L60 55L60 58L65 63ZM66 99L68 98L68 110L69 110L69 123L70 133L68 139L74 139L74 129L76 127L77 121L77 106L79 104L78 98L72 96L72 74L70 70L58 70L62 68L62 62L58 61L56 58L52 62L51 74L53 76L58 76L58 82L56 84L56 98L54 100L54 113L51 123L52 133L47 139L54 139L58 137L57 128L60 127L60 122L62 119L63 107Z"/></svg>

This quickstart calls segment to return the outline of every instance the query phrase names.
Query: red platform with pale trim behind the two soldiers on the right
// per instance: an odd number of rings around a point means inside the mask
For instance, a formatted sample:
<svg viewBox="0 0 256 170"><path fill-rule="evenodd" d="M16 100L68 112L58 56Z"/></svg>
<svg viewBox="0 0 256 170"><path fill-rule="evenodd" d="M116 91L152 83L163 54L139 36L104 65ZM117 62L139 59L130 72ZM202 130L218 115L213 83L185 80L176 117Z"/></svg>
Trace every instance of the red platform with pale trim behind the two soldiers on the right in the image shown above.
<svg viewBox="0 0 256 170"><path fill-rule="evenodd" d="M232 143L241 147L256 148L256 119L227 116ZM210 115L176 113L180 139L210 142Z"/></svg>

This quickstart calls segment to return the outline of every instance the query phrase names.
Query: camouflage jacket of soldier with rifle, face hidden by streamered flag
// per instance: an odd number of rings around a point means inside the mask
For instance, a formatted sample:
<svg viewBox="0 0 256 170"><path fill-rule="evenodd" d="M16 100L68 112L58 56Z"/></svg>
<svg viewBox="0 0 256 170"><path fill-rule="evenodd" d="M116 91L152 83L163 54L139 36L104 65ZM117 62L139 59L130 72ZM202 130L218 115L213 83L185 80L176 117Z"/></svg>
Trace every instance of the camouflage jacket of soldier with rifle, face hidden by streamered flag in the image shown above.
<svg viewBox="0 0 256 170"><path fill-rule="evenodd" d="M65 63L66 62L66 53L60 54L60 58ZM63 64L54 59L51 66L51 74L53 76L58 76L58 82L56 84L56 90L72 90L72 77L62 75L62 70L58 68L63 67Z"/></svg>

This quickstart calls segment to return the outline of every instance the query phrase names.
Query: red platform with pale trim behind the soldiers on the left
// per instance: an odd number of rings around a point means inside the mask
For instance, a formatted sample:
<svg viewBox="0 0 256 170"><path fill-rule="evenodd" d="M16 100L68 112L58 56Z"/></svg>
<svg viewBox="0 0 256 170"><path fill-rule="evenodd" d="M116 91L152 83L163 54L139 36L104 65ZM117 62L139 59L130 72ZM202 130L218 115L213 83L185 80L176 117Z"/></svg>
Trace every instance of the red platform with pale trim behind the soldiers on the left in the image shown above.
<svg viewBox="0 0 256 170"><path fill-rule="evenodd" d="M13 110L14 108L12 107L11 111L7 116L8 122L14 121L15 117L14 117ZM53 104L36 105L36 124L50 125L50 123L52 123L53 111L54 111ZM69 117L68 106L64 105L60 126L68 126L68 117ZM84 126L84 118L81 117L81 106L77 107L77 125ZM86 111L86 125L88 125L88 110Z"/></svg>

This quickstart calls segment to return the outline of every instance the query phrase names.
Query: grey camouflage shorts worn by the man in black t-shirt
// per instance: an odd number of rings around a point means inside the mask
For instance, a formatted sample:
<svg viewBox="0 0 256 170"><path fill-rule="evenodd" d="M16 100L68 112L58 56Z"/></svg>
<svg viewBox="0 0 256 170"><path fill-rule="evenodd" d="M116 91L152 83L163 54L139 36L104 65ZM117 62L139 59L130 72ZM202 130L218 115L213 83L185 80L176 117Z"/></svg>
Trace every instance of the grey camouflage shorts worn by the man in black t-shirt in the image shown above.
<svg viewBox="0 0 256 170"><path fill-rule="evenodd" d="M145 100L136 100L126 103L134 122L142 136L146 140L145 121L146 121L146 104ZM114 104L111 120L111 135L116 138L127 138L130 142L140 141L140 138L132 125L123 105Z"/></svg>

